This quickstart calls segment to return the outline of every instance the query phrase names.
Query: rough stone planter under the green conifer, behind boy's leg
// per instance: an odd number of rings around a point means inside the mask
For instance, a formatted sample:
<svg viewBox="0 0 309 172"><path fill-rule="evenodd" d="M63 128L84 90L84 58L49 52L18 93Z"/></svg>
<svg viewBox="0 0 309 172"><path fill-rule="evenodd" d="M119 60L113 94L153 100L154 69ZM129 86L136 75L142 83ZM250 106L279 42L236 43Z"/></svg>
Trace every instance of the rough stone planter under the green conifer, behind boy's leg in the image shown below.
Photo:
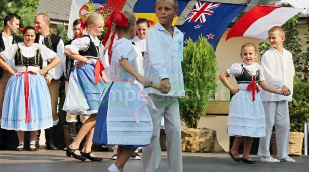
<svg viewBox="0 0 309 172"><path fill-rule="evenodd" d="M182 152L225 152L217 141L216 131L210 129L185 129L181 130ZM160 133L161 150L166 151L165 130Z"/></svg>

